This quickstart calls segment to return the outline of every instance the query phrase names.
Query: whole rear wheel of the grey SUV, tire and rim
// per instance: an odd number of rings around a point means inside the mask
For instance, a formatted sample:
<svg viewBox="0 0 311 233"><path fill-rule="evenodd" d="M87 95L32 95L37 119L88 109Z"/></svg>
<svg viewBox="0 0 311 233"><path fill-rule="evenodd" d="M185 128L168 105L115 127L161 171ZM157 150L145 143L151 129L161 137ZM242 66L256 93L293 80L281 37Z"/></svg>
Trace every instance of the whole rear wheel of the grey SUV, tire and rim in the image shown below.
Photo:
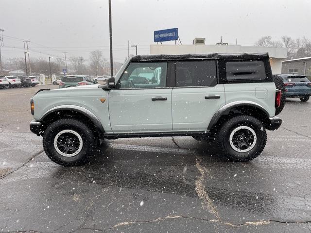
<svg viewBox="0 0 311 233"><path fill-rule="evenodd" d="M246 162L256 158L264 149L267 133L253 116L235 116L216 135L218 148L226 158Z"/></svg>

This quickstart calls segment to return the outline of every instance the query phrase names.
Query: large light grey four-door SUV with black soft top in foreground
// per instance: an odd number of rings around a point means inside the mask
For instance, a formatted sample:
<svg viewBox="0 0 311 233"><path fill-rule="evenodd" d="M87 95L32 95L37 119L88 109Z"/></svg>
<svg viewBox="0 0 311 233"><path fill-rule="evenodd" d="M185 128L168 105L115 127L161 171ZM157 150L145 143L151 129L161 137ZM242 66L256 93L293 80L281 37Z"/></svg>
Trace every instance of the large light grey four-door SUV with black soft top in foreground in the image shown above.
<svg viewBox="0 0 311 233"><path fill-rule="evenodd" d="M157 81L134 84L138 69ZM280 127L280 97L268 53L139 55L105 85L37 92L30 129L63 166L87 163L98 139L153 136L213 139L227 159L245 162L264 149L266 129Z"/></svg>

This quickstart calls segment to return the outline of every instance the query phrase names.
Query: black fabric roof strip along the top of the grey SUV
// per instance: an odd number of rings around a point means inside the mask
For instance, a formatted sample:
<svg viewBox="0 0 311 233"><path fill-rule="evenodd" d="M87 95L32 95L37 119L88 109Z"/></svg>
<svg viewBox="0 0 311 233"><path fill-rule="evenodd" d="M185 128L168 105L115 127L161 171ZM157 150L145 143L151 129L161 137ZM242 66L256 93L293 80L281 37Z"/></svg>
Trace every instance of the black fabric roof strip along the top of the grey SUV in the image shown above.
<svg viewBox="0 0 311 233"><path fill-rule="evenodd" d="M192 59L228 59L228 60L259 60L269 59L267 52L254 53L189 53L189 54L157 54L157 55L137 55L131 61L152 61L152 60L192 60Z"/></svg>

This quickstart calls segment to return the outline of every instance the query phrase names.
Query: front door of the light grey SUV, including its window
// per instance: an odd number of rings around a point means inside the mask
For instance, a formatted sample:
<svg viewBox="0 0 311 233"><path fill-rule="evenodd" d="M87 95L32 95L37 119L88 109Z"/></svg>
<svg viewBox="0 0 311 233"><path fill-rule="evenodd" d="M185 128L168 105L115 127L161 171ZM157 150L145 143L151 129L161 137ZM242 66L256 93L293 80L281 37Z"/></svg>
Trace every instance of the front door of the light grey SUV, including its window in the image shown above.
<svg viewBox="0 0 311 233"><path fill-rule="evenodd" d="M167 63L130 63L108 95L114 133L172 131L172 87Z"/></svg>

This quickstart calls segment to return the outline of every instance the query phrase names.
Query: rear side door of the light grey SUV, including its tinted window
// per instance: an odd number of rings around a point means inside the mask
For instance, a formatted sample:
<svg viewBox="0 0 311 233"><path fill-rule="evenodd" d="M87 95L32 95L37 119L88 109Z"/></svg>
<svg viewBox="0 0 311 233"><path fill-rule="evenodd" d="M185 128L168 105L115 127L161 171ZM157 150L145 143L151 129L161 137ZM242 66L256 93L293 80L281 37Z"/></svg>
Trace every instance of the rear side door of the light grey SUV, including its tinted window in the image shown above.
<svg viewBox="0 0 311 233"><path fill-rule="evenodd" d="M207 130L225 104L224 84L217 84L216 61L175 62L172 92L173 131Z"/></svg>

